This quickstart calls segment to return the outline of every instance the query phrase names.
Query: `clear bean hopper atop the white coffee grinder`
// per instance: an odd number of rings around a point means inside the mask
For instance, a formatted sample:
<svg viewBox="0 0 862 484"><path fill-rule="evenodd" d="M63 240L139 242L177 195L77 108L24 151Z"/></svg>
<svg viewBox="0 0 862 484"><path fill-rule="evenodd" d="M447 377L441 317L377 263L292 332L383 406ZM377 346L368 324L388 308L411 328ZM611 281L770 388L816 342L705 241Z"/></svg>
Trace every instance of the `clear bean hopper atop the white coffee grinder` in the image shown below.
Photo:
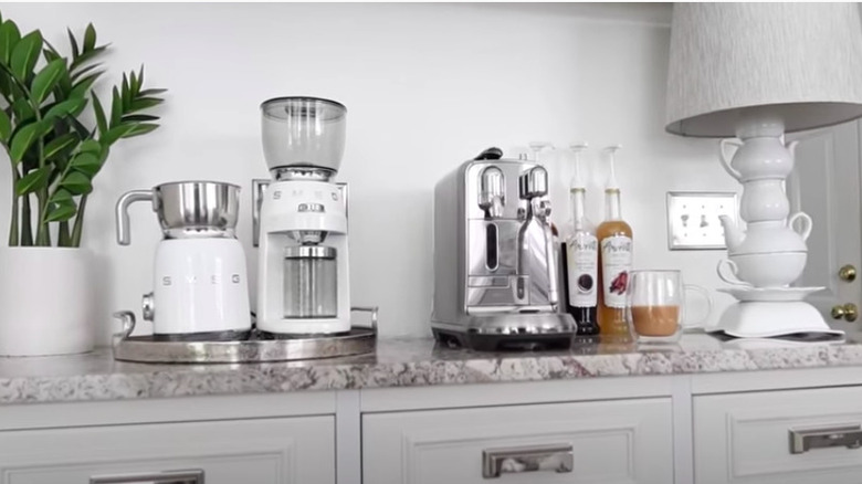
<svg viewBox="0 0 862 484"><path fill-rule="evenodd" d="M261 104L263 155L270 170L319 167L338 171L347 108L318 97L276 97Z"/></svg>

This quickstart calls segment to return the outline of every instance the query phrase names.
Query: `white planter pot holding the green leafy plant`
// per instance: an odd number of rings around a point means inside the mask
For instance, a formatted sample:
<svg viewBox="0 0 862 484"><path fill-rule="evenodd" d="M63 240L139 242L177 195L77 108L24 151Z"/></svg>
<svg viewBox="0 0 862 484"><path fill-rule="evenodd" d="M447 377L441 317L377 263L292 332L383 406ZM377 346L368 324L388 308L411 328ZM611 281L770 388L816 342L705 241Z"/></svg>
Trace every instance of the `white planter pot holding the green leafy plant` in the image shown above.
<svg viewBox="0 0 862 484"><path fill-rule="evenodd" d="M0 248L0 355L93 349L91 259L82 249Z"/></svg>

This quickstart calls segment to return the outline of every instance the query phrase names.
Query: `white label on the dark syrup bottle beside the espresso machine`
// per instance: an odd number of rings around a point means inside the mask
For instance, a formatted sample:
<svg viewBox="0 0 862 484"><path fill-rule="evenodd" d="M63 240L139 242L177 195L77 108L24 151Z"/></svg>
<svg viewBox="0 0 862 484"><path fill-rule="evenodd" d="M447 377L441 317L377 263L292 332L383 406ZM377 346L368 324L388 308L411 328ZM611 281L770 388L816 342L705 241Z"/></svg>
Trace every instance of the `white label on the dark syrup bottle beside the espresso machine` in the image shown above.
<svg viewBox="0 0 862 484"><path fill-rule="evenodd" d="M595 307L598 298L599 241L589 232L578 232L566 244L569 306Z"/></svg>

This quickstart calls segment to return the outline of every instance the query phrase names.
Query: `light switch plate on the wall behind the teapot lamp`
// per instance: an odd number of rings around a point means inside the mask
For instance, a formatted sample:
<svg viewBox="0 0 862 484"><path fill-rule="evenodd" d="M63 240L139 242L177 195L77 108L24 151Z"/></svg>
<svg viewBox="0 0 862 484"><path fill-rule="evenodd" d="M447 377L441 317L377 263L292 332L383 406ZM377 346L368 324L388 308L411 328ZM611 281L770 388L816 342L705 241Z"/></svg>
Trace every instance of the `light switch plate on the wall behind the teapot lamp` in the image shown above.
<svg viewBox="0 0 862 484"><path fill-rule="evenodd" d="M667 192L667 249L726 249L719 215L727 215L736 222L736 193Z"/></svg>

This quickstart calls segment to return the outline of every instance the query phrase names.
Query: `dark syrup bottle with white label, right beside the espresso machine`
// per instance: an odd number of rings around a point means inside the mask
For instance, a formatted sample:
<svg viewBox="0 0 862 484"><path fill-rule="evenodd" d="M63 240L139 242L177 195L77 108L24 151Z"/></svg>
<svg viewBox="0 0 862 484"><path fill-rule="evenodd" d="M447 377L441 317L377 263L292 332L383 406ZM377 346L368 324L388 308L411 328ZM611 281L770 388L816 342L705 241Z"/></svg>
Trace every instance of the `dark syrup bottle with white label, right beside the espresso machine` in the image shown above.
<svg viewBox="0 0 862 484"><path fill-rule="evenodd" d="M565 246L568 291L566 311L578 324L578 336L592 336L599 334L596 320L599 242L596 228L584 214L587 183L581 176L580 152L587 148L587 144L575 143L570 148L575 151L575 176L569 183L572 221Z"/></svg>

